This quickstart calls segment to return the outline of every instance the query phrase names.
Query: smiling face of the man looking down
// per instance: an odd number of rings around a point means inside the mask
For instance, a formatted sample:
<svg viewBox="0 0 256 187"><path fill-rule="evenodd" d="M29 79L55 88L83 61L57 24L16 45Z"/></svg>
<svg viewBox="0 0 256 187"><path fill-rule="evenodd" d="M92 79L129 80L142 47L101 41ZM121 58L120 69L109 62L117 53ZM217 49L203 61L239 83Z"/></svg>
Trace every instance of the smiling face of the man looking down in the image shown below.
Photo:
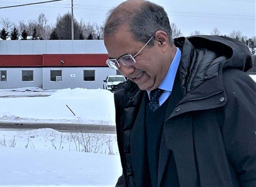
<svg viewBox="0 0 256 187"><path fill-rule="evenodd" d="M154 38L152 39L154 40ZM114 35L104 37L104 44L108 51L109 58L119 60L123 55L135 55L145 45L135 41L128 31L119 29ZM146 46L135 57L136 63L132 66L124 66L119 62L119 71L138 84L141 90L153 90L157 88L163 80L162 71L163 59L158 42L154 40L154 46Z"/></svg>

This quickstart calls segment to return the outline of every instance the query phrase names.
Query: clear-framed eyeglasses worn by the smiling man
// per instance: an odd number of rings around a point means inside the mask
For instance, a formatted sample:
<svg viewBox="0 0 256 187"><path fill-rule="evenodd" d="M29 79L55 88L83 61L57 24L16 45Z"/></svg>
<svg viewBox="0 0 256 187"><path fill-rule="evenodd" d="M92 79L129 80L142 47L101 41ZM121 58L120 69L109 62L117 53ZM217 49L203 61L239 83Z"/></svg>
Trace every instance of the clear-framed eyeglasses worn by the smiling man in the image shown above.
<svg viewBox="0 0 256 187"><path fill-rule="evenodd" d="M125 66L131 66L134 65L136 63L135 57L140 53L140 51L142 51L142 49L144 47L146 47L146 45L148 45L148 43L152 40L152 38L154 38L154 36L152 36L149 41L139 50L139 52L132 56L131 54L128 55L124 55L121 56L119 58L119 60L113 58L113 59L108 59L106 61L106 64L111 68L111 69L118 69L120 67L119 62L121 62L123 65Z"/></svg>

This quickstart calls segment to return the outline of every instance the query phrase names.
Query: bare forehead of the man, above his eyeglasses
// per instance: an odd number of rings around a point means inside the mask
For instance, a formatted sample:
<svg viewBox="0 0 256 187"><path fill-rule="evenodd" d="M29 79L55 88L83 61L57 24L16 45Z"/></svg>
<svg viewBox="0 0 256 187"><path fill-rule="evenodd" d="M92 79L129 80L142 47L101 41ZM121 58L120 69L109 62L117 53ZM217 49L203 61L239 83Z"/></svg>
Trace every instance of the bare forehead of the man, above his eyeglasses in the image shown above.
<svg viewBox="0 0 256 187"><path fill-rule="evenodd" d="M119 29L113 35L104 36L104 45L109 58L118 58L125 54L136 53L141 43L134 40L131 32Z"/></svg>

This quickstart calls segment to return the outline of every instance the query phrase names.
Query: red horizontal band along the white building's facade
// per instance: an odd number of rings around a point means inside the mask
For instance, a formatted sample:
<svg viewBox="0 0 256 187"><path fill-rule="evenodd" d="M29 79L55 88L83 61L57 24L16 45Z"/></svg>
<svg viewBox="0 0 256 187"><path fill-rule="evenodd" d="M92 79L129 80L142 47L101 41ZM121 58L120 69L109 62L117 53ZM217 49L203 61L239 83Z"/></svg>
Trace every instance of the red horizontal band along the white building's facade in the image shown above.
<svg viewBox="0 0 256 187"><path fill-rule="evenodd" d="M107 59L107 54L0 55L0 67L107 66Z"/></svg>

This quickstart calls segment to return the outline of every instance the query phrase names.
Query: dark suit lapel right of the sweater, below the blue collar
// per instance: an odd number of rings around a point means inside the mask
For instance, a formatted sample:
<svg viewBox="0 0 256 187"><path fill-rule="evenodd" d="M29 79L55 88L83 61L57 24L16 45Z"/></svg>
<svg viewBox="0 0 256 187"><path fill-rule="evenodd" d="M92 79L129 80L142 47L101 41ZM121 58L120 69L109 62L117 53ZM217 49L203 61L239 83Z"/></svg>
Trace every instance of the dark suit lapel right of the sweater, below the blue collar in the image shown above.
<svg viewBox="0 0 256 187"><path fill-rule="evenodd" d="M175 106L181 101L182 97L183 97L183 93L181 90L180 74L178 70L175 77L172 93L168 100L168 106L167 106L164 121L168 119L168 117L173 112ZM165 122L164 122L163 129L164 128L165 128ZM158 165L158 187L160 187L169 154L170 154L170 149L167 148L164 133L162 133L160 152L159 152L159 165Z"/></svg>

